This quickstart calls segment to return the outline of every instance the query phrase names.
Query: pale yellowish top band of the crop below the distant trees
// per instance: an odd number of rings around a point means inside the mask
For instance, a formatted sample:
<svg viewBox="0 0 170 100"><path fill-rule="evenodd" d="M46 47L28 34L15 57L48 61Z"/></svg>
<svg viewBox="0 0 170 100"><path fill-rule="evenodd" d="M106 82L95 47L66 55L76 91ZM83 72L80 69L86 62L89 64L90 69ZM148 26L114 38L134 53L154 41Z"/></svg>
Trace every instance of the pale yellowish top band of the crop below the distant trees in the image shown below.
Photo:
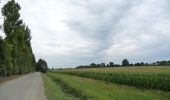
<svg viewBox="0 0 170 100"><path fill-rule="evenodd" d="M80 71L80 72L100 72L100 73L152 73L165 74L170 73L170 66L133 66L133 67L106 67L106 68L78 68L58 71Z"/></svg>

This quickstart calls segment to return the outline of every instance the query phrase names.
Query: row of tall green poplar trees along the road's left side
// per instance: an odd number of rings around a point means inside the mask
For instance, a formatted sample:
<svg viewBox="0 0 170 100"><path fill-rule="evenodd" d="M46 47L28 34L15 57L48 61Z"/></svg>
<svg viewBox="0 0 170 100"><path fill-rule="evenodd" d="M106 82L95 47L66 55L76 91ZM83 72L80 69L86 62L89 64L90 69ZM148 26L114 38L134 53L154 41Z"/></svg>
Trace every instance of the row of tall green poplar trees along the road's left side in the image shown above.
<svg viewBox="0 0 170 100"><path fill-rule="evenodd" d="M4 17L0 36L0 77L23 74L35 70L36 61L31 47L30 29L20 19L20 5L8 1L1 9Z"/></svg>

